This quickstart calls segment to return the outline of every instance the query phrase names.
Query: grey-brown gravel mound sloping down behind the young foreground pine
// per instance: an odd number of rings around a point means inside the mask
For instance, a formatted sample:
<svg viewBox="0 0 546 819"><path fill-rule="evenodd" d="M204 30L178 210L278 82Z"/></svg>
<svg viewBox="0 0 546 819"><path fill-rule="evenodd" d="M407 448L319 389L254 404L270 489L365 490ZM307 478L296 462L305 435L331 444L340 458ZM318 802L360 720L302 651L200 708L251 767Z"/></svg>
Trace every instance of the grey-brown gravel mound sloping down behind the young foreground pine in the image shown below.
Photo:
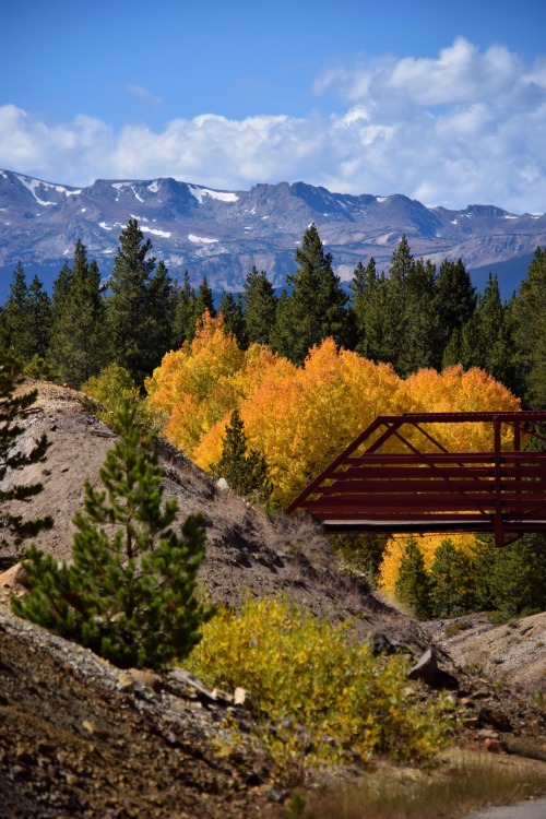
<svg viewBox="0 0 546 819"><path fill-rule="evenodd" d="M75 390L37 382L35 403L19 446L24 451L44 432L50 441L47 461L17 473L17 483L43 484L31 505L13 503L23 515L52 514L54 529L37 545L57 559L69 559L72 519L82 507L84 482L98 486L99 467L116 440ZM284 515L269 519L213 480L174 447L157 444L166 497L176 497L180 523L202 511L207 523L206 558L201 579L215 603L238 605L245 594L286 592L317 615L334 619L360 616L363 636L382 632L417 653L424 641L416 624L372 594L365 583L346 578L328 541L310 521ZM11 548L11 556L16 556ZM1 590L0 590L1 595ZM5 593L3 594L5 601Z"/></svg>

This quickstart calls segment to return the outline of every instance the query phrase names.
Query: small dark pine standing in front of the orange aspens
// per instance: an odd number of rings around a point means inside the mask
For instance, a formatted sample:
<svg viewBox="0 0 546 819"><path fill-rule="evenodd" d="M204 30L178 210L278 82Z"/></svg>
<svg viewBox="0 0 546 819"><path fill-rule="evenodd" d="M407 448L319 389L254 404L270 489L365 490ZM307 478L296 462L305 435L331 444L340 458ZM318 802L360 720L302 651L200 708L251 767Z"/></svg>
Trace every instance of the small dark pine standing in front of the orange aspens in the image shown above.
<svg viewBox="0 0 546 819"><path fill-rule="evenodd" d="M238 410L232 413L223 441L222 458L214 465L213 474L227 480L237 495L254 495L266 499L272 491L268 479L268 465L256 450L247 454L247 436Z"/></svg>

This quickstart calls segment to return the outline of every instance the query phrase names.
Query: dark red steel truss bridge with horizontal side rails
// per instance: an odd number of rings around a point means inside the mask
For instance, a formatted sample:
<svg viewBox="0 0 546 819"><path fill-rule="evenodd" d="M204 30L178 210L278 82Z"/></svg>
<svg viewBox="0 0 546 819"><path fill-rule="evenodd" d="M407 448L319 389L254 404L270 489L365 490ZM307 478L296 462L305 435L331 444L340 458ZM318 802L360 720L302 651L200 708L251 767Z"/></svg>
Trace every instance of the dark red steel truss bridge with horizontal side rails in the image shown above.
<svg viewBox="0 0 546 819"><path fill-rule="evenodd" d="M470 425L470 439L472 425L487 425L490 448L448 451L450 424ZM328 532L490 533L497 546L546 532L541 424L546 411L381 415L286 511L306 510Z"/></svg>

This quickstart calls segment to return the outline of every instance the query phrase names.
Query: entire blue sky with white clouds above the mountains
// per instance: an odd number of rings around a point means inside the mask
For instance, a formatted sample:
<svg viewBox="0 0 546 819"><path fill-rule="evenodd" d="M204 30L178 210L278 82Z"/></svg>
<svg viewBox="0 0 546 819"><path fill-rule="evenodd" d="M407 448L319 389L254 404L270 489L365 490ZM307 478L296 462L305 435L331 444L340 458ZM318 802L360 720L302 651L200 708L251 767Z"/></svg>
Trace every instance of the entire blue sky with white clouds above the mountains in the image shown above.
<svg viewBox="0 0 546 819"><path fill-rule="evenodd" d="M546 212L546 0L0 0L0 167Z"/></svg>

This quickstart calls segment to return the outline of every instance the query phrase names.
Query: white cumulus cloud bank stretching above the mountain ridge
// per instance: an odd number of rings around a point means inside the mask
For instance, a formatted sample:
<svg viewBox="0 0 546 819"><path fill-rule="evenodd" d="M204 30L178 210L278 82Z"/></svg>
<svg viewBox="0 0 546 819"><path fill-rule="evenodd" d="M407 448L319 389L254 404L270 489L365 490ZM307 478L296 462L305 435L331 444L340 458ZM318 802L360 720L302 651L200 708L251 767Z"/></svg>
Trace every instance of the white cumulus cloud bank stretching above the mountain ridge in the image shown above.
<svg viewBox="0 0 546 819"><path fill-rule="evenodd" d="M546 210L546 60L456 39L435 59L360 57L324 70L342 112L242 120L203 114L162 131L0 108L0 166L51 181L173 176L225 189L305 180L426 204ZM337 106L339 107L339 106Z"/></svg>

